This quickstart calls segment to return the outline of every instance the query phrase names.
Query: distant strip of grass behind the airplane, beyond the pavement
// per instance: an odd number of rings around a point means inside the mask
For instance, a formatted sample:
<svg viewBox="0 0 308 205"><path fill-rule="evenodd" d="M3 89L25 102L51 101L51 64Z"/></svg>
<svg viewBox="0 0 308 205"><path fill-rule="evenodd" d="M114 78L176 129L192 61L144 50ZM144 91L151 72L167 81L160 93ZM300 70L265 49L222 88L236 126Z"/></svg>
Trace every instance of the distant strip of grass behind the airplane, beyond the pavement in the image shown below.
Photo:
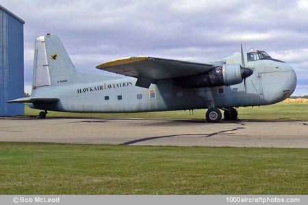
<svg viewBox="0 0 308 205"><path fill-rule="evenodd" d="M49 111L47 117L93 117L93 118L169 118L169 119L204 119L206 109L189 111L160 111L148 113L63 113ZM25 107L27 115L38 115L39 111ZM285 103L262 107L240 107L241 120L308 120L308 103Z"/></svg>

